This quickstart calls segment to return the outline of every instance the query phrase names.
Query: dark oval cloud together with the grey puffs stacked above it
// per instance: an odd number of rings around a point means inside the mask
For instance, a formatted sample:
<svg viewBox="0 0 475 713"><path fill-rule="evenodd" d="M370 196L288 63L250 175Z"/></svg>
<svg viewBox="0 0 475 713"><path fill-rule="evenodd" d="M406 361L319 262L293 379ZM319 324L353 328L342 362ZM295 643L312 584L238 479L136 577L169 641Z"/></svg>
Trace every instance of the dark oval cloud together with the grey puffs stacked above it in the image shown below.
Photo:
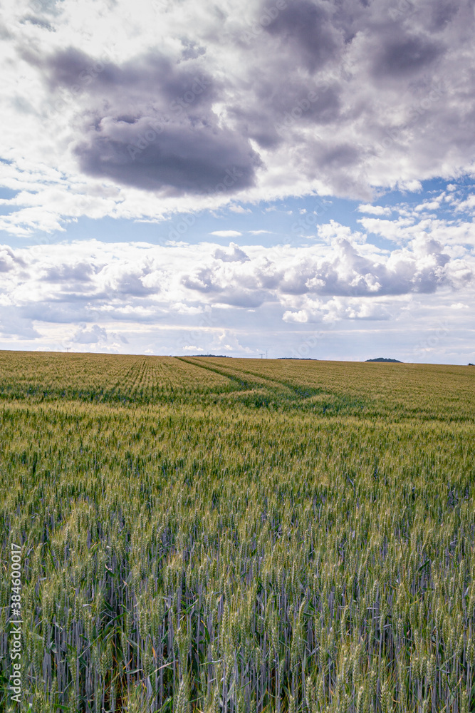
<svg viewBox="0 0 475 713"><path fill-rule="evenodd" d="M149 52L118 66L75 48L25 56L41 63L52 93L68 88L83 101L74 153L84 173L167 195L254 185L262 161L248 137L221 125L219 83L199 63Z"/></svg>

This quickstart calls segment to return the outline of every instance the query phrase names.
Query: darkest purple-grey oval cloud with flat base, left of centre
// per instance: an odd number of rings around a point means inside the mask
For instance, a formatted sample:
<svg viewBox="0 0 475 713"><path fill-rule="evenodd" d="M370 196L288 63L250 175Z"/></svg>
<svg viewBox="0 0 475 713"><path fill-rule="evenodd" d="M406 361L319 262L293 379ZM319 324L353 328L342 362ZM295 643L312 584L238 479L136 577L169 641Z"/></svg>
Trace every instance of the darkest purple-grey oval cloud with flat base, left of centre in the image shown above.
<svg viewBox="0 0 475 713"><path fill-rule="evenodd" d="M246 139L216 123L162 125L152 116L101 120L75 154L85 173L168 195L234 193L254 185L261 165Z"/></svg>

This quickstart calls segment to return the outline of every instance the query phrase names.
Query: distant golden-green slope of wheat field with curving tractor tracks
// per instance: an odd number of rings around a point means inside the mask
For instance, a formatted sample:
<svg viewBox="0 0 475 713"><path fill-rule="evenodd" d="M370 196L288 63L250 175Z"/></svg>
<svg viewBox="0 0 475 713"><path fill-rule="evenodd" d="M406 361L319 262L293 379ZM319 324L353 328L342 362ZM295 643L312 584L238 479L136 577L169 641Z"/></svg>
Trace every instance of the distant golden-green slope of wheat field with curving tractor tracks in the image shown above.
<svg viewBox="0 0 475 713"><path fill-rule="evenodd" d="M0 352L0 401L473 419L466 366Z"/></svg>

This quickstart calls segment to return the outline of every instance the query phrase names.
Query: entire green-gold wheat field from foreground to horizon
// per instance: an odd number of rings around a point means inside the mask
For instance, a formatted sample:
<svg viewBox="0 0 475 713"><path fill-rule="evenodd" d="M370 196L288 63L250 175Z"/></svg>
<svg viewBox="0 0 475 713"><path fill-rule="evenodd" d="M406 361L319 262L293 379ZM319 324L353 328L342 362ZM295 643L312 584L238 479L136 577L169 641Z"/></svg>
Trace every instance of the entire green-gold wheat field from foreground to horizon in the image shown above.
<svg viewBox="0 0 475 713"><path fill-rule="evenodd" d="M25 709L474 711L474 396L466 366L0 352Z"/></svg>

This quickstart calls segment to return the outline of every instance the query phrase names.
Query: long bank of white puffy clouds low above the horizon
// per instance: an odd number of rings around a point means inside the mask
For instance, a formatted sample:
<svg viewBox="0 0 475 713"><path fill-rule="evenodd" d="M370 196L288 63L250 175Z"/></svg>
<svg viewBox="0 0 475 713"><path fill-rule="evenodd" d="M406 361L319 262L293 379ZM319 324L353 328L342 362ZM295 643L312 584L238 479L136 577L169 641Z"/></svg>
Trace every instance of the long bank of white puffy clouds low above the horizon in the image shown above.
<svg viewBox="0 0 475 713"><path fill-rule="evenodd" d="M394 228L393 221L380 222ZM413 308L404 316L414 299L432 302L452 320L466 319L475 259L455 240L470 226L457 224L451 233L446 225L443 242L438 223L437 235L412 223L412 233L392 251L334 221L320 226L324 240L305 247L95 240L1 247L1 344L256 354L265 334L279 342L286 330L311 324L384 323L401 335L410 319L420 331L427 317ZM469 340L464 330L461 343ZM157 334L167 334L167 342L157 342Z"/></svg>

